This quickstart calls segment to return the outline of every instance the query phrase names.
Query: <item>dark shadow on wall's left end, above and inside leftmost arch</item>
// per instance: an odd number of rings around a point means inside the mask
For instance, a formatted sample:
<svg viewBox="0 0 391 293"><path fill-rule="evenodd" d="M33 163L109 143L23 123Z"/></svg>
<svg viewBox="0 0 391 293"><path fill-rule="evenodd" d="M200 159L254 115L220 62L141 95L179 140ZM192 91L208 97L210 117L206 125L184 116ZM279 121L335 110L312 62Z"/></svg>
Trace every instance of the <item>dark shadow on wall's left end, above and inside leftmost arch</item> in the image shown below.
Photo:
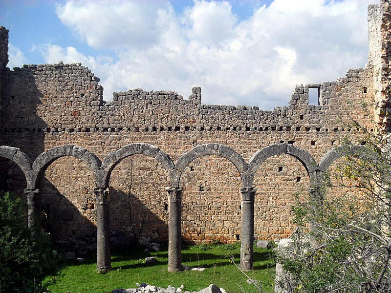
<svg viewBox="0 0 391 293"><path fill-rule="evenodd" d="M20 148L31 160L44 151L47 124L36 115L43 93L31 71L3 71L0 145ZM26 116L26 113L29 113ZM0 189L13 191L26 203L26 179L11 160L0 158Z"/></svg>

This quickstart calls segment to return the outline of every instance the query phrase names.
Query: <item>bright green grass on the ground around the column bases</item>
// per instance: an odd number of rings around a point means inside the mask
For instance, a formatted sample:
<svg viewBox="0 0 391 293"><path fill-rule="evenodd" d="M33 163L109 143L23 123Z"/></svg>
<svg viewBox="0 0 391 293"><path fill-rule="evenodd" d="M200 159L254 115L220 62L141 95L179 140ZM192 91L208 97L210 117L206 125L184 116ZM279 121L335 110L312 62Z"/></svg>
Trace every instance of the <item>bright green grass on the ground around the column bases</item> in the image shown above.
<svg viewBox="0 0 391 293"><path fill-rule="evenodd" d="M247 274L261 280L265 292L273 292L274 262L272 250L254 249L254 270ZM239 285L245 292L258 292L254 285L247 284L244 276L229 256L239 264L240 246L236 245L196 245L182 249L182 264L191 268L206 268L204 272L168 272L167 248L159 252L113 251L111 255L112 270L107 274L96 272L95 255L87 255L84 263L69 261L56 275L47 276L43 285L53 293L109 293L118 288L136 288L136 283L147 283L167 288L168 285L178 288L185 286L184 291L199 291L214 283L229 293L240 292ZM153 256L158 263L146 265L144 258ZM238 284L239 285L238 285Z"/></svg>

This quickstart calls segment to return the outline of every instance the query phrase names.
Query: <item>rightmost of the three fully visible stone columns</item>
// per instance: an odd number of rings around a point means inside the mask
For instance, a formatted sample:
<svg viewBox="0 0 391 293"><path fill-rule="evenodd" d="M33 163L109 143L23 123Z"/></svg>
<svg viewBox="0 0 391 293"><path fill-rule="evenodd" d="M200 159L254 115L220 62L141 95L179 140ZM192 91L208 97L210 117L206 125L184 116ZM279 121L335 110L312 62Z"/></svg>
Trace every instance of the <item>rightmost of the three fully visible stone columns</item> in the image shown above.
<svg viewBox="0 0 391 293"><path fill-rule="evenodd" d="M254 198L255 188L240 188L241 226L240 226L240 267L251 271L254 262Z"/></svg>

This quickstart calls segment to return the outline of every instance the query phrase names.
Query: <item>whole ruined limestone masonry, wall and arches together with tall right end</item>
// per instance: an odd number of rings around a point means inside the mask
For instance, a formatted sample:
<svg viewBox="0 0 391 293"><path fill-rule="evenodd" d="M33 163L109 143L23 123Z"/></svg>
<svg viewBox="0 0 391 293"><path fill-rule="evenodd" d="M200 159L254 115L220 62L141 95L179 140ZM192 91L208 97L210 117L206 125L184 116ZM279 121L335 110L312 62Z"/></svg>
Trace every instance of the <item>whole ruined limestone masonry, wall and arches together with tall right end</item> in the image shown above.
<svg viewBox="0 0 391 293"><path fill-rule="evenodd" d="M56 239L99 238L105 229L126 238L141 223L143 236L167 240L176 209L179 231L170 233L196 242L243 242L245 192L256 190L256 238L288 237L295 192L307 192L338 157L332 149L351 119L390 130L390 21L388 1L370 5L366 66L298 85L289 105L273 111L203 105L200 87L188 100L136 88L106 103L99 78L81 63L7 68L8 30L0 27L0 188L23 198L27 188L29 209L39 201ZM308 105L310 89L318 105ZM374 113L361 111L360 101L372 99ZM105 215L109 228L96 236Z"/></svg>

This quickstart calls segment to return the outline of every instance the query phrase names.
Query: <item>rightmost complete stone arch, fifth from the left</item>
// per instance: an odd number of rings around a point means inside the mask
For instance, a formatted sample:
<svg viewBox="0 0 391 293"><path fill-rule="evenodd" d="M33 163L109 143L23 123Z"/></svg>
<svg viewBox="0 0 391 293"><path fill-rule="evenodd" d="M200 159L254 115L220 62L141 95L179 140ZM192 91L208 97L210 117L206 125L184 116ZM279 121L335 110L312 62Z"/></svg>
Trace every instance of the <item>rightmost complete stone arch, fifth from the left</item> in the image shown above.
<svg viewBox="0 0 391 293"><path fill-rule="evenodd" d="M258 167L269 157L278 154L288 154L297 158L304 166L308 173L311 182L316 180L316 171L318 170L318 164L316 164L314 158L304 149L288 145L288 144L275 144L272 146L266 146L258 150L251 158L248 163L248 183L249 188L252 187L255 172Z"/></svg>

